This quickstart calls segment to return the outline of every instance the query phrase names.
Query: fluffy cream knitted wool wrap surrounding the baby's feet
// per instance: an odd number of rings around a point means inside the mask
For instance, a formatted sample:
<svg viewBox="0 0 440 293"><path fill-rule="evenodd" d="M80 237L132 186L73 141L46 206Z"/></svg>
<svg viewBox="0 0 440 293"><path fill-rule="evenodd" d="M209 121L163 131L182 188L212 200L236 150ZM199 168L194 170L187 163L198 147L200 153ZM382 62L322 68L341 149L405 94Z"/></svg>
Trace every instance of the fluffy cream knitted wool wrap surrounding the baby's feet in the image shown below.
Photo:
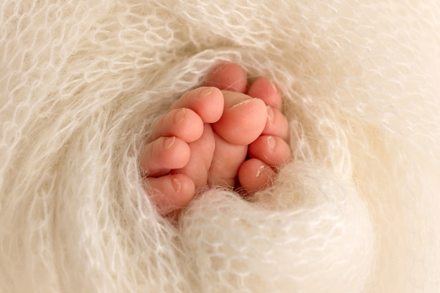
<svg viewBox="0 0 440 293"><path fill-rule="evenodd" d="M440 2L0 4L0 292L440 292ZM224 61L295 158L173 226L145 137Z"/></svg>

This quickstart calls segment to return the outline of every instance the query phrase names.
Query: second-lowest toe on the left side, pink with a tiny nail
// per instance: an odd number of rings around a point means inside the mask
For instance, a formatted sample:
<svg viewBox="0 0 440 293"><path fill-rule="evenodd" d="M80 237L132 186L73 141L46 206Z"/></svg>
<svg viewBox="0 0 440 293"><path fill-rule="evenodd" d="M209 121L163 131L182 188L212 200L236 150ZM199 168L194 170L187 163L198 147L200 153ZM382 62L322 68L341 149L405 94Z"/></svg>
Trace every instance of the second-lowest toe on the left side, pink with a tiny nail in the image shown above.
<svg viewBox="0 0 440 293"><path fill-rule="evenodd" d="M184 167L189 158L188 143L176 136L162 136L145 145L140 166L145 176L162 176Z"/></svg>

